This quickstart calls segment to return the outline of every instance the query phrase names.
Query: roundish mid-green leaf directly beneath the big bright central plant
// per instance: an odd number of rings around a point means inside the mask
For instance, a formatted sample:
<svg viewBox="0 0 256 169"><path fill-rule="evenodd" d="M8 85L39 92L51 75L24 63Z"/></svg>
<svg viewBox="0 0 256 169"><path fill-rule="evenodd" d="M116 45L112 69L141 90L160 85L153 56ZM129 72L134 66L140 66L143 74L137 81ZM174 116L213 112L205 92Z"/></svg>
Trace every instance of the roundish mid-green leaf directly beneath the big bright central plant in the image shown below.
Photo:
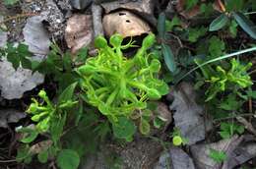
<svg viewBox="0 0 256 169"><path fill-rule="evenodd" d="M134 123L126 117L118 118L118 122L112 124L112 129L116 138L125 139L126 141L131 141L136 131Z"/></svg>

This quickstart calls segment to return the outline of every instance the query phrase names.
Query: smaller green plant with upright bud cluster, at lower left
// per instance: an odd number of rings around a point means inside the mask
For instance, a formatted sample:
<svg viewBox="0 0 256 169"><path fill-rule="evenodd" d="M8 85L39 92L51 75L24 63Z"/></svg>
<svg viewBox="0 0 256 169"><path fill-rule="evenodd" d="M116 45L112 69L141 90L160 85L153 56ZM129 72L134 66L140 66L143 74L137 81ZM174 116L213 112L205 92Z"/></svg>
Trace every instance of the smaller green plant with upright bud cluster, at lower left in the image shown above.
<svg viewBox="0 0 256 169"><path fill-rule="evenodd" d="M43 150L37 152L38 160L41 162L46 162L48 156L63 156L65 155L65 152L73 154L77 153L74 150L64 150L60 140L66 124L67 116L69 116L68 113L78 103L78 101L73 100L76 85L77 84L71 84L67 87L59 95L57 104L53 104L46 95L46 92L44 90L40 90L38 96L42 101L40 102L33 98L32 104L27 111L29 114L32 114L32 121L36 123L35 127L33 128L29 126L17 129L17 132L23 134L23 138L21 139L23 143L32 143L38 135L47 135L49 141L52 141L51 146L46 146ZM29 153L32 152L29 146L25 145L24 147L27 147L27 151ZM29 155L29 157L31 155ZM19 161L27 160L26 157L27 156L24 156L20 159L18 155L17 159L19 159ZM73 159L69 160L72 161ZM79 160L79 158L76 160ZM58 161L62 162L62 160ZM65 169L65 167L61 168Z"/></svg>

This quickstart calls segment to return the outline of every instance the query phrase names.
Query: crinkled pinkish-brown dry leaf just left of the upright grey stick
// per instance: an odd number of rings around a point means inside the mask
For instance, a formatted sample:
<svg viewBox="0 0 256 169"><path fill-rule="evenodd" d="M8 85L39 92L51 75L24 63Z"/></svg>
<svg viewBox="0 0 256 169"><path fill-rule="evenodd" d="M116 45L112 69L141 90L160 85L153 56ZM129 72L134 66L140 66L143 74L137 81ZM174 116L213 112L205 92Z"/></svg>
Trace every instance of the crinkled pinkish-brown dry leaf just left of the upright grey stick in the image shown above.
<svg viewBox="0 0 256 169"><path fill-rule="evenodd" d="M93 40L93 21L90 15L74 15L67 22L65 39L72 53Z"/></svg>

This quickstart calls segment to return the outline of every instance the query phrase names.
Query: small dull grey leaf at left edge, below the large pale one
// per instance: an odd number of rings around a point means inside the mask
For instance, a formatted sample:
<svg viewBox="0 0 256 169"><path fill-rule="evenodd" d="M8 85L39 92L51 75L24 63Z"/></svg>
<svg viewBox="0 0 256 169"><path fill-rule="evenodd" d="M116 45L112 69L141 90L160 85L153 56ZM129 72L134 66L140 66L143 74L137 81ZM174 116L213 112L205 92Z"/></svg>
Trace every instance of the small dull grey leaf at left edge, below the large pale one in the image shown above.
<svg viewBox="0 0 256 169"><path fill-rule="evenodd" d="M15 109L0 110L0 128L8 128L9 123L17 123L26 117L26 113Z"/></svg>

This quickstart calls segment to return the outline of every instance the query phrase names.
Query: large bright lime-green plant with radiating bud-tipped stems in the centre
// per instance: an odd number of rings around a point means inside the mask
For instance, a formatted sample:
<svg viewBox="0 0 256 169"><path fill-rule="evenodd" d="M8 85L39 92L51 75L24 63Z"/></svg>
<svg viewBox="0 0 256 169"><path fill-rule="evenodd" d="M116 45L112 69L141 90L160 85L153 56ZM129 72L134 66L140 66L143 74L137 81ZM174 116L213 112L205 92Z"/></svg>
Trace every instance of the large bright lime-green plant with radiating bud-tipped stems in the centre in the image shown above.
<svg viewBox="0 0 256 169"><path fill-rule="evenodd" d="M138 110L146 109L149 99L160 99L168 92L168 86L158 79L160 61L147 52L155 42L154 34L145 37L133 58L126 58L122 53L123 49L133 46L132 42L122 45L122 41L121 35L114 34L109 40L110 47L104 37L97 37L98 55L89 58L77 72L81 76L84 99L108 118L119 138L123 137L119 135L121 124L118 123L121 120L127 124L127 131L123 132L127 132L126 139L130 140L135 128L129 118ZM142 123L148 125L145 121Z"/></svg>

